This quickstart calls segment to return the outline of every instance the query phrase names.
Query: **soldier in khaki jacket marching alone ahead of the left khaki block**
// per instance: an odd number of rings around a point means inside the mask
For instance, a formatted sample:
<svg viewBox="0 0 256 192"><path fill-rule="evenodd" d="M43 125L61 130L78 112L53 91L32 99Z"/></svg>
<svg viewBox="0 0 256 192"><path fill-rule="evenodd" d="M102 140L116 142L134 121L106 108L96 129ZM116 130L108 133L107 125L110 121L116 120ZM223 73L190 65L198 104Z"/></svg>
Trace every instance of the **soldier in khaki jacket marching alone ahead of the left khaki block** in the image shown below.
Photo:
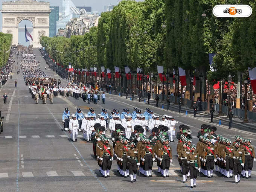
<svg viewBox="0 0 256 192"><path fill-rule="evenodd" d="M139 153L138 149L135 148L135 143L131 142L130 144L131 148L127 151L126 155L128 158L128 168L129 168L129 173L131 177L131 183L136 182L136 173L137 173L137 168L138 165L140 164L138 162Z"/></svg>

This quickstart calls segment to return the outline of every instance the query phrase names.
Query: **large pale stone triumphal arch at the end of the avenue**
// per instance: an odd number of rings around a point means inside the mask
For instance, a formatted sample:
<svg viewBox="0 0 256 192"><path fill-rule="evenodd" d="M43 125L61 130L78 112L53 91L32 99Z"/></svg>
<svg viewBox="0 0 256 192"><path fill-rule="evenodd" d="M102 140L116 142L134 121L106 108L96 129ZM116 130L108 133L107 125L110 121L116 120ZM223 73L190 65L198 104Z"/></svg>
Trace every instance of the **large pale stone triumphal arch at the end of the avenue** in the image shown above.
<svg viewBox="0 0 256 192"><path fill-rule="evenodd" d="M18 45L18 27L22 20L33 24L33 47L41 47L41 35L49 36L49 2L20 0L2 3L2 32L12 34L12 44ZM24 26L25 27L25 26ZM25 38L25 33L24 33Z"/></svg>

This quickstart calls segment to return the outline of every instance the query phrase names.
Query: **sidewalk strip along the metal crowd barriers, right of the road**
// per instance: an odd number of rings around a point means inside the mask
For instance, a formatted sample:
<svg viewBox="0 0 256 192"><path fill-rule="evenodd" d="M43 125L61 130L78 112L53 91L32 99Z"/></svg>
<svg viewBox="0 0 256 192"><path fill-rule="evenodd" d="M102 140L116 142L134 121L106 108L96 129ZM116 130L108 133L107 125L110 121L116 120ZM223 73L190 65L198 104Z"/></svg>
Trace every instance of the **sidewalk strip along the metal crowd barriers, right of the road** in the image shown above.
<svg viewBox="0 0 256 192"><path fill-rule="evenodd" d="M111 92L111 95L120 96L119 94L120 94L120 92L117 92L117 94L115 94L115 91ZM122 97L126 98L126 94L122 94ZM128 98L127 99L131 100L131 97L132 97L131 94L128 94ZM134 101L139 101L138 96L134 95ZM148 98L140 98L140 102L147 103L148 102ZM151 99L149 101L149 105L151 105L151 106L154 105L155 106L156 105L156 101ZM167 110L167 102L159 100L158 107ZM169 110L177 112L178 111L178 105L174 105L174 103L170 103ZM187 113L189 115L190 114L194 114L194 110L193 109L190 109L187 106L181 106L181 113L186 113L186 111L187 111ZM198 116L198 115L200 115L200 116ZM210 113L207 113L206 111L198 111L196 117L200 117L200 119L203 118L203 120L206 120L206 121L210 122ZM222 125L222 123L229 124L229 117L227 117L226 115L218 116L218 113L215 112L214 116L213 116L213 122L215 122L215 123L217 123L219 125L219 120L221 120L221 125ZM237 117L233 117L233 119L232 119L232 125L236 125L236 126L239 126L239 128L245 128L247 130L250 129L250 130L256 131L256 122L252 122L252 123L242 123L242 122L243 122L243 120L240 120Z"/></svg>

